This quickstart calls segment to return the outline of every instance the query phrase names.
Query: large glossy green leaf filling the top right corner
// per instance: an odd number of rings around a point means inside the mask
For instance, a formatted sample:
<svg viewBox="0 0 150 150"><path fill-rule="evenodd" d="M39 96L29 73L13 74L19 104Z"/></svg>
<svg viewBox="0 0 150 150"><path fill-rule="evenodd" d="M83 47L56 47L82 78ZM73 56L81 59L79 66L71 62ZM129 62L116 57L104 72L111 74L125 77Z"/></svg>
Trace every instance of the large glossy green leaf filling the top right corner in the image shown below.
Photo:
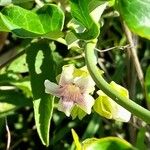
<svg viewBox="0 0 150 150"><path fill-rule="evenodd" d="M116 7L131 31L150 39L149 0L116 0Z"/></svg>

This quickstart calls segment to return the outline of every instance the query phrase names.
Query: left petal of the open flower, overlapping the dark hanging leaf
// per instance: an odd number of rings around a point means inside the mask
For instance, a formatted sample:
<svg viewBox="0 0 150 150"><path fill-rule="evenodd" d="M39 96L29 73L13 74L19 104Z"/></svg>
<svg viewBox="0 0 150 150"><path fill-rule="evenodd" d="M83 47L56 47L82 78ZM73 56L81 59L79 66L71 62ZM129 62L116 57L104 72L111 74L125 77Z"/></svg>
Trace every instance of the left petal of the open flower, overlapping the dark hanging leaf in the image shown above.
<svg viewBox="0 0 150 150"><path fill-rule="evenodd" d="M54 82L50 82L49 80L45 80L44 85L45 93L59 97L59 86L57 84L55 84Z"/></svg>

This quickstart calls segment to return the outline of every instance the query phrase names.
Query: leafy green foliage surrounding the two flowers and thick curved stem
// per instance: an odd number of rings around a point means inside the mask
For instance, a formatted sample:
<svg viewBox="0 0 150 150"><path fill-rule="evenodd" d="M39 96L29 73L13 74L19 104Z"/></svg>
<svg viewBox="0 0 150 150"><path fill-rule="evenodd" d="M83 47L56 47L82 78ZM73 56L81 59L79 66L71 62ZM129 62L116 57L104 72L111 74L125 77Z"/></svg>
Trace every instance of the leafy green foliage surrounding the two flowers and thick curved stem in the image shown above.
<svg viewBox="0 0 150 150"><path fill-rule="evenodd" d="M0 10L0 149L6 149L9 132L10 149L73 150L80 149L79 140L84 149L150 147L150 127L139 118L121 123L92 113L73 120L55 109L57 99L43 84L56 82L65 64L84 66L85 41L97 38L98 65L107 81L126 87L131 99L149 109L148 0L0 0ZM133 43L124 22L134 32Z"/></svg>

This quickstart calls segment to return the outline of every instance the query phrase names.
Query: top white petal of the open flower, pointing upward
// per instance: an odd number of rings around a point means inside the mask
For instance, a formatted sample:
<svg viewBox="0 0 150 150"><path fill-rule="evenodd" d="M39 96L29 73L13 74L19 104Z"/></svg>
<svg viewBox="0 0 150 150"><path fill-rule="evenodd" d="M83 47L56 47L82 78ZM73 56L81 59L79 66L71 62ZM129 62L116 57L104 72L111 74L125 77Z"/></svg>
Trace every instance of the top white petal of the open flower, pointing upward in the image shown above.
<svg viewBox="0 0 150 150"><path fill-rule="evenodd" d="M65 85L72 82L74 69L75 67L73 64L63 66L59 81L60 85Z"/></svg>

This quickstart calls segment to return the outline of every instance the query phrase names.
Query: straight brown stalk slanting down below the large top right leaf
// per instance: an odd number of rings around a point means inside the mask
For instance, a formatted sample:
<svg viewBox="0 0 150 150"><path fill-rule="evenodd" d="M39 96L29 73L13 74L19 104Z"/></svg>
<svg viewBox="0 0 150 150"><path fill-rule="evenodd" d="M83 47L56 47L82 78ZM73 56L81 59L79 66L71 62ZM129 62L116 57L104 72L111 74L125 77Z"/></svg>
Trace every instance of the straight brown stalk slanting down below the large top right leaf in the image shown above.
<svg viewBox="0 0 150 150"><path fill-rule="evenodd" d="M143 76L142 68L141 68L141 65L140 65L140 62L139 62L139 59L137 56L136 47L134 46L132 33L124 22L123 22L123 28L124 28L127 40L129 42L129 44L131 45L131 47L130 47L131 53L130 54L131 54L131 58L133 60L133 63L134 63L134 66L135 66L135 69L137 72L138 79L140 81L142 88L144 88L144 76Z"/></svg>

